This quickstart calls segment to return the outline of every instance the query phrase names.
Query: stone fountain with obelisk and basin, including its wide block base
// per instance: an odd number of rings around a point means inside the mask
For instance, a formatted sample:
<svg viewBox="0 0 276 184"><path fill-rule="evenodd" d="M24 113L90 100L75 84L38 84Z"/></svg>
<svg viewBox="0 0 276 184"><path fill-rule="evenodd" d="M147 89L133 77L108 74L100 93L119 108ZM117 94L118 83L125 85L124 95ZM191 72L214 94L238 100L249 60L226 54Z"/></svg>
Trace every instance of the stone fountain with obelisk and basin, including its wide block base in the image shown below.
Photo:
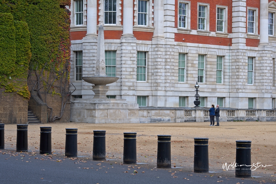
<svg viewBox="0 0 276 184"><path fill-rule="evenodd" d="M94 84L93 98L74 99L71 103L71 122L87 123L138 123L140 122L138 104L127 104L126 99L108 99L107 84L116 82L119 77L106 75L104 27L99 26L97 40L97 61L94 76L84 76L82 79Z"/></svg>

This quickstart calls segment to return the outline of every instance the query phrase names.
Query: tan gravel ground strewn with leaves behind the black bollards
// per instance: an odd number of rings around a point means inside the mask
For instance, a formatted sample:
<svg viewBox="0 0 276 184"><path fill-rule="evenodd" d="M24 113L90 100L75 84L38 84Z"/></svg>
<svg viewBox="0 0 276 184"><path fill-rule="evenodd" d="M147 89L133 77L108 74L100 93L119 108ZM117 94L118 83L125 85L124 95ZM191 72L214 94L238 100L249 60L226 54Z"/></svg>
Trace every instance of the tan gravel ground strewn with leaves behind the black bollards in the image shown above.
<svg viewBox="0 0 276 184"><path fill-rule="evenodd" d="M266 181L275 182L276 122L220 122L220 126L209 126L209 122L149 123L149 124L89 124L49 123L28 126L29 150L39 154L41 126L52 127L52 151L64 154L65 129L78 128L78 155L92 158L93 130L106 130L106 157L123 162L123 133L137 132L137 162L156 166L157 135L171 135L172 166L193 170L194 137L209 138L209 170L222 171L233 176L234 171L223 169L236 157L236 140L250 140L251 161L262 165L273 165L252 171L252 175L265 176ZM16 124L5 125L5 148L16 149ZM232 167L230 167L232 168ZM269 177L268 177L269 176ZM274 180L274 181L273 181ZM261 181L261 180L260 180Z"/></svg>

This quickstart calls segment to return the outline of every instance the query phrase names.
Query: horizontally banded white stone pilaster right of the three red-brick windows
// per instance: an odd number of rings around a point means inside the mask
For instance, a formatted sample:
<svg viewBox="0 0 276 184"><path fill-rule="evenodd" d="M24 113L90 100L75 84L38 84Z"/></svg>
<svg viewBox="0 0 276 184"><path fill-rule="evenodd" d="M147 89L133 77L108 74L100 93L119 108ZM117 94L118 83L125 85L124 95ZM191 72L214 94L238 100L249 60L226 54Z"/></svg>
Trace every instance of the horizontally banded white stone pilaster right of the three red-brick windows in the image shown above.
<svg viewBox="0 0 276 184"><path fill-rule="evenodd" d="M232 1L232 46L246 43L246 0Z"/></svg>

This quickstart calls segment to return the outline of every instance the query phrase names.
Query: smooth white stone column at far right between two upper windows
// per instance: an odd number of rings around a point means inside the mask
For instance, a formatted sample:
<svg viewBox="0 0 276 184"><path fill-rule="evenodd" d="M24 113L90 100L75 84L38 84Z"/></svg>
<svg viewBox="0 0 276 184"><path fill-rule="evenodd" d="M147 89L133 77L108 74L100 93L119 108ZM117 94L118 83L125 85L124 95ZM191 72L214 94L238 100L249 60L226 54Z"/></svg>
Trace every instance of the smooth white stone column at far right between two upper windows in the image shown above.
<svg viewBox="0 0 276 184"><path fill-rule="evenodd" d="M268 43L268 0L260 0L260 43L259 45L269 45Z"/></svg>

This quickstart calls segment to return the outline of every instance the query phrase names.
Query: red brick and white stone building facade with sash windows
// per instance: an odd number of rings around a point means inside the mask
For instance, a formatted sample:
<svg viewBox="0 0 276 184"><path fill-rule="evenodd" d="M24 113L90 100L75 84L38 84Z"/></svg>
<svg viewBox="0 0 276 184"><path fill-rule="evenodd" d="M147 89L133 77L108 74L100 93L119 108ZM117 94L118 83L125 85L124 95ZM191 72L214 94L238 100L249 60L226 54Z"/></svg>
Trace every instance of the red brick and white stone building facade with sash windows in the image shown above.
<svg viewBox="0 0 276 184"><path fill-rule="evenodd" d="M104 26L109 98L147 107L276 108L276 2L71 0L72 100L92 98ZM72 87L73 90L73 87ZM74 99L73 99L74 98Z"/></svg>

